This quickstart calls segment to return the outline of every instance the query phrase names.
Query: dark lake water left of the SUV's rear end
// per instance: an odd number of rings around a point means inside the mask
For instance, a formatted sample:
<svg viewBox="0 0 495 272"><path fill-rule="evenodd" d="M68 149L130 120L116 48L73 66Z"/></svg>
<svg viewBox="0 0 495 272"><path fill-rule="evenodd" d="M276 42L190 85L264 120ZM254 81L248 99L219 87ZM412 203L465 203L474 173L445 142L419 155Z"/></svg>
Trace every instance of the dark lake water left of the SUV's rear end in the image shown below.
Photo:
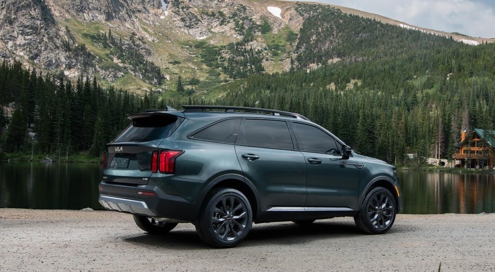
<svg viewBox="0 0 495 272"><path fill-rule="evenodd" d="M100 209L99 164L0 162L0 208Z"/></svg>

